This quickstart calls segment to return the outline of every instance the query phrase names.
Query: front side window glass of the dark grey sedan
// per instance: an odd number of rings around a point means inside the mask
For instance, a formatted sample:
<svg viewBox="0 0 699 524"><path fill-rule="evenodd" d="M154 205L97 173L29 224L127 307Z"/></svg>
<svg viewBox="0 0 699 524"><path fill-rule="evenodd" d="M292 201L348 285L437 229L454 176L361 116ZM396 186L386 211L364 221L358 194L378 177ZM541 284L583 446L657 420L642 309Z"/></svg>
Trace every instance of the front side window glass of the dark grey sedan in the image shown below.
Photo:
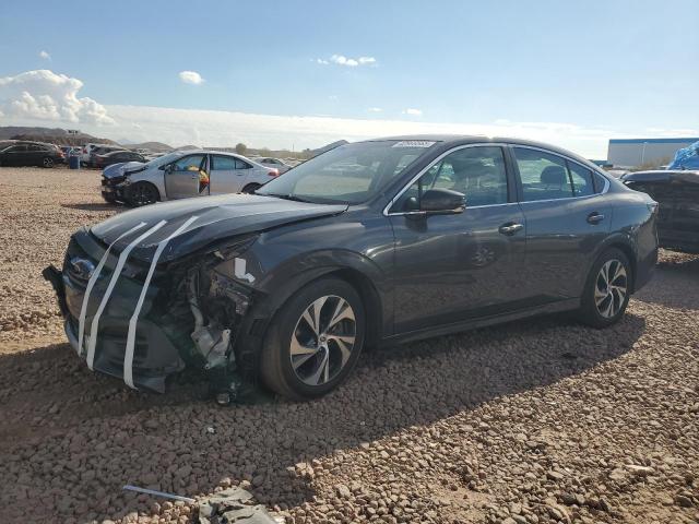
<svg viewBox="0 0 699 524"><path fill-rule="evenodd" d="M464 147L431 166L391 207L391 213L419 210L419 200L430 189L448 189L466 196L466 207L506 204L507 172L502 148Z"/></svg>

